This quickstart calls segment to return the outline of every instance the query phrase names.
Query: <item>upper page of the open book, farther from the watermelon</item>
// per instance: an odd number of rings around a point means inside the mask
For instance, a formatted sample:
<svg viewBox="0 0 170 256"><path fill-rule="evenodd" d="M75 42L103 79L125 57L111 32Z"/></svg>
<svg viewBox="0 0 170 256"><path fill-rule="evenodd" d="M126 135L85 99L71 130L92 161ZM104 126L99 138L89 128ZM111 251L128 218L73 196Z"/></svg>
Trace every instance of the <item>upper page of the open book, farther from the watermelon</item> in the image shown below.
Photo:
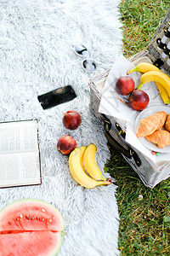
<svg viewBox="0 0 170 256"><path fill-rule="evenodd" d="M37 149L37 120L0 123L0 154Z"/></svg>

